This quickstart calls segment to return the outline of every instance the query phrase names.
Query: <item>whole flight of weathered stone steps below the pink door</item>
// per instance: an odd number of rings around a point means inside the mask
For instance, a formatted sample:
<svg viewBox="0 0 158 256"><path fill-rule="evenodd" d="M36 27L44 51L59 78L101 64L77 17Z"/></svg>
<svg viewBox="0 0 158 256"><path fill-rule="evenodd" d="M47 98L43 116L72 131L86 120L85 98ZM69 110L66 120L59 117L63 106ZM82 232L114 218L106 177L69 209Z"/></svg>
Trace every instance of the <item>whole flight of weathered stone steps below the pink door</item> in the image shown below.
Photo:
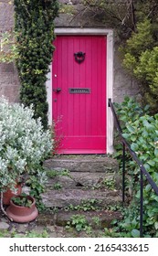
<svg viewBox="0 0 158 256"><path fill-rule="evenodd" d="M86 219L97 216L104 227L112 219L121 218L120 213L109 211L121 205L121 178L116 160L100 155L58 155L48 159L45 166L49 178L46 192L41 196L46 208L58 208L58 213L51 217L56 225L65 226L71 216L81 214L83 206L89 208L84 212Z"/></svg>

